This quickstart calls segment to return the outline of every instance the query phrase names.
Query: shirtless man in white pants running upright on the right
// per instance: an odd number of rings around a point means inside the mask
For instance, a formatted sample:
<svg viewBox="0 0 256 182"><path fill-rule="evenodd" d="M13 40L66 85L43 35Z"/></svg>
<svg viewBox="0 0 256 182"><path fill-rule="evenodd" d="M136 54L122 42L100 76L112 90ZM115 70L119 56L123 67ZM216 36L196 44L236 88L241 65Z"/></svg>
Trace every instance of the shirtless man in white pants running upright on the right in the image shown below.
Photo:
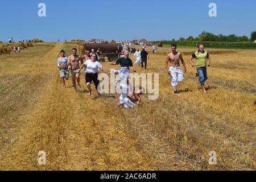
<svg viewBox="0 0 256 182"><path fill-rule="evenodd" d="M185 66L185 61L183 60L183 57L181 56L180 52L177 52L177 46L175 44L172 44L171 46L172 52L168 54L166 58L166 69L170 76L172 87L174 88L174 93L177 92L177 86L179 82L184 81L184 75L182 72L182 69L180 68L180 60L184 67L184 72L187 72L187 68ZM171 64L171 67L168 67L168 63Z"/></svg>

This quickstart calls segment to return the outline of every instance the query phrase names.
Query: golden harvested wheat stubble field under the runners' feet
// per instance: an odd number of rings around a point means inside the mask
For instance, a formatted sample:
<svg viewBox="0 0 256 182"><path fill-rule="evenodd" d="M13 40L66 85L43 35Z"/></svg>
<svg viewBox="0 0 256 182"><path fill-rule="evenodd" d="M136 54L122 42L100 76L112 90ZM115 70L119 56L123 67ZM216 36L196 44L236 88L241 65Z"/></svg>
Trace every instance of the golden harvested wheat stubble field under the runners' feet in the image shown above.
<svg viewBox="0 0 256 182"><path fill-rule="evenodd" d="M1 170L256 169L256 50L210 55L207 94L189 55L183 56L188 71L179 94L171 88L166 56L150 55L146 71L135 69L159 74L158 100L145 94L142 107L121 109L118 94L75 93L71 80L63 88L57 57L74 46L40 43L0 55ZM105 73L113 68L102 65ZM46 151L44 166L39 151ZM210 151L216 151L217 165L209 165Z"/></svg>

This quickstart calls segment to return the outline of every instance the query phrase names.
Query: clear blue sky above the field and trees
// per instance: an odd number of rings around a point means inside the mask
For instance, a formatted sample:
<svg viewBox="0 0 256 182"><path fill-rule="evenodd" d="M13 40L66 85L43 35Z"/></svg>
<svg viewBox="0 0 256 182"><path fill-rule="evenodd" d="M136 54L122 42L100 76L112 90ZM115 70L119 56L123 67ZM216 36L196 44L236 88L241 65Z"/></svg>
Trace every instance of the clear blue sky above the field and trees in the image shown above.
<svg viewBox="0 0 256 182"><path fill-rule="evenodd" d="M46 3L46 17L38 4ZM209 3L217 4L217 17L209 17ZM256 30L254 0L11 0L0 1L0 40L10 37L108 40L170 40L214 34L246 35Z"/></svg>

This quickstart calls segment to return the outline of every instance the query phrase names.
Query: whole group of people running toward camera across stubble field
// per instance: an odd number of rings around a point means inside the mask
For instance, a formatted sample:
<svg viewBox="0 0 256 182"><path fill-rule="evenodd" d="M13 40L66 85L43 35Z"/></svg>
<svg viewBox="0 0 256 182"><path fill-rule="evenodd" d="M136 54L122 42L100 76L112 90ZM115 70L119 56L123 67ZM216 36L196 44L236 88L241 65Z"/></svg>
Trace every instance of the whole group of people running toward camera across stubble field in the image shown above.
<svg viewBox="0 0 256 182"><path fill-rule="evenodd" d="M189 63L192 67L197 68L197 77L199 77L199 82L203 92L206 93L205 89L205 81L207 81L207 66L210 66L210 56L207 51L204 51L204 45L200 44L198 46L198 50L193 53L193 55L189 58ZM174 93L179 93L177 90L179 82L184 81L184 73L187 72L187 67L185 65L185 61L180 52L176 51L177 46L173 44L171 46L171 53L167 56L166 59L166 69L168 75L170 75L170 81L172 88L174 89ZM100 50L98 50L99 52ZM76 84L81 90L80 85L80 75L81 70L84 69L85 72L85 82L89 92L89 96L92 95L92 82L94 83L96 90L98 92L98 85L100 81L98 80L98 72L104 71L101 63L98 61L98 54L94 52L94 50L85 51L84 56L77 55L77 49L72 49L72 55L66 57L65 51L61 50L60 57L57 61L57 66L60 69L60 77L63 81L64 88L66 88L65 80L69 79L69 72L71 73L73 88L77 91ZM137 51L134 53L134 57L136 57L135 64L141 64L142 68L147 68L147 55L148 52L145 51L143 47L142 51ZM142 63L140 60L142 59ZM196 63L194 63L193 59L196 59ZM183 70L180 67L180 61L183 64ZM143 65L145 63L145 65ZM133 108L136 104L141 105L141 94L144 93L143 88L134 89L133 85L129 84L129 75L130 69L133 72L136 72L133 67L133 61L129 58L129 52L125 52L125 55L118 59L115 64L112 65L121 65L119 70L114 71L115 74L119 75L118 80L115 82L115 87L119 84L119 89L121 90L121 96L119 98L118 106L123 106L126 108ZM184 73L183 73L184 71ZM100 95L100 92L98 92Z"/></svg>

